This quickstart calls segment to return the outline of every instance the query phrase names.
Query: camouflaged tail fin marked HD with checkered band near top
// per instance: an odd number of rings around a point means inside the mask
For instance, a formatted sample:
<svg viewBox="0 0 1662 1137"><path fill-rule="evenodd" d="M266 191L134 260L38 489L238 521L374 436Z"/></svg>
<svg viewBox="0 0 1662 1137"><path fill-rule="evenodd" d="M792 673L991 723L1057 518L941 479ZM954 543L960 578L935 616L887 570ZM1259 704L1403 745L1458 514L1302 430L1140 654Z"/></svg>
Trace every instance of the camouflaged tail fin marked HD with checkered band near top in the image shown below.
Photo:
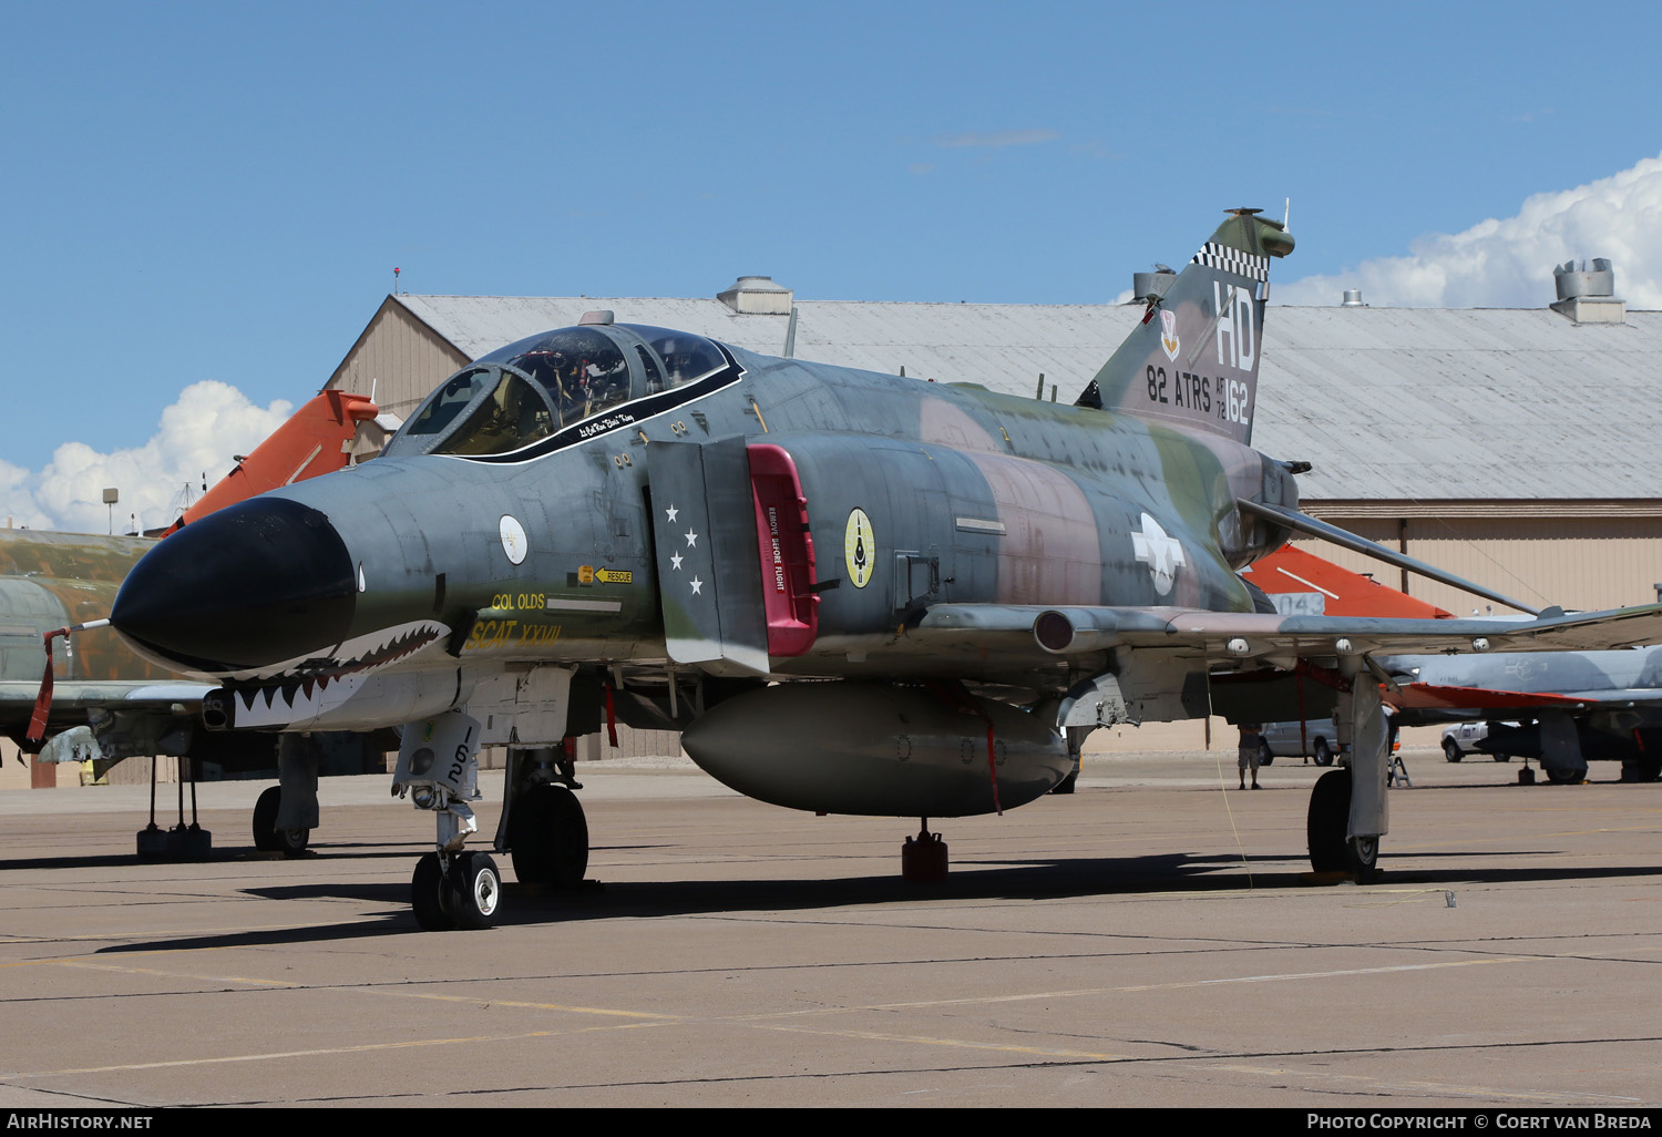
<svg viewBox="0 0 1662 1137"><path fill-rule="evenodd" d="M1251 444L1270 258L1293 238L1258 209L1230 209L1195 259L1148 304L1075 406L1119 411Z"/></svg>

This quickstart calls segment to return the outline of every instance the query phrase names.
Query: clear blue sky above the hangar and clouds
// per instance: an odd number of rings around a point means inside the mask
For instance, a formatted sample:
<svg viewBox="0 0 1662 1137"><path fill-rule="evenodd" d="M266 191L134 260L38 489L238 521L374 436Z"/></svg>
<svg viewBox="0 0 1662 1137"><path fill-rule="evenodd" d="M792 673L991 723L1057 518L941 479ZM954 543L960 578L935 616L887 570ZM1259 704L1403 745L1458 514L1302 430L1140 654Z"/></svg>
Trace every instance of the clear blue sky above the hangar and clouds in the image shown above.
<svg viewBox="0 0 1662 1137"><path fill-rule="evenodd" d="M1645 5L5 13L0 512L35 524L70 524L43 505L60 445L143 447L191 384L229 384L249 422L301 402L394 266L412 293L710 296L765 273L814 299L1102 303L1220 209L1290 196L1281 281L1544 303L1561 254L1526 201L1662 151ZM1596 248L1562 256L1662 261L1635 201L1582 214ZM1546 284L1378 296L1391 258L1507 218Z"/></svg>

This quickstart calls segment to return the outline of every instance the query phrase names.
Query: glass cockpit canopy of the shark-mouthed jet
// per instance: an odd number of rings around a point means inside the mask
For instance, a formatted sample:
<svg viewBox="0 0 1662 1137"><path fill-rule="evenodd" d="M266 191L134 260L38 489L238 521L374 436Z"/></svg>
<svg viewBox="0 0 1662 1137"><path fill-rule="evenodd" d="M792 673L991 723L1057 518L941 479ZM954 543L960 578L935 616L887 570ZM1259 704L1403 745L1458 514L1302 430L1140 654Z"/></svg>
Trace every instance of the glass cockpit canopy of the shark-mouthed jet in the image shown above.
<svg viewBox="0 0 1662 1137"><path fill-rule="evenodd" d="M725 366L715 341L666 327L585 324L542 332L445 379L384 454L512 454L565 431L588 437L580 424Z"/></svg>

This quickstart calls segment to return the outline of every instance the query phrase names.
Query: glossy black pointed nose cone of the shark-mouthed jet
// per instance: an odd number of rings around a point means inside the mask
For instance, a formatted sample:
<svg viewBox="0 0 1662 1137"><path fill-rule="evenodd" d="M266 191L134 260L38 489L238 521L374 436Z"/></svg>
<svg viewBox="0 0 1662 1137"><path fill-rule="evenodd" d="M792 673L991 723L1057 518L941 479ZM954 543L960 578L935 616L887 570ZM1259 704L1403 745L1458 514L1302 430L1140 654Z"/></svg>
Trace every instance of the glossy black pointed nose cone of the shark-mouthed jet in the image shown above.
<svg viewBox="0 0 1662 1137"><path fill-rule="evenodd" d="M148 655L224 675L332 648L356 600L352 559L329 519L256 497L151 549L126 575L110 622Z"/></svg>

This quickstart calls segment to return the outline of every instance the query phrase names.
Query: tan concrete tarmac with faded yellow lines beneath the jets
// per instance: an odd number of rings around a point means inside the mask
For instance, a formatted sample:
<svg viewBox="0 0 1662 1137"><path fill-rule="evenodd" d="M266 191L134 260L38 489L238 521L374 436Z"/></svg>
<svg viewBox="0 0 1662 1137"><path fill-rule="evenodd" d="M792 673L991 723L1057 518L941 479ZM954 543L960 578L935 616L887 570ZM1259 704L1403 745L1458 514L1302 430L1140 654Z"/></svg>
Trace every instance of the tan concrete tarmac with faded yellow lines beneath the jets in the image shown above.
<svg viewBox="0 0 1662 1137"><path fill-rule="evenodd" d="M1313 766L1089 761L939 821L944 884L899 879L916 821L580 768L592 883L500 856L502 924L442 934L386 778L326 780L291 861L251 848L258 783L201 788L198 864L133 858L141 790L8 793L0 1105L1662 1102L1662 785L1409 755L1358 886L1306 871Z"/></svg>

